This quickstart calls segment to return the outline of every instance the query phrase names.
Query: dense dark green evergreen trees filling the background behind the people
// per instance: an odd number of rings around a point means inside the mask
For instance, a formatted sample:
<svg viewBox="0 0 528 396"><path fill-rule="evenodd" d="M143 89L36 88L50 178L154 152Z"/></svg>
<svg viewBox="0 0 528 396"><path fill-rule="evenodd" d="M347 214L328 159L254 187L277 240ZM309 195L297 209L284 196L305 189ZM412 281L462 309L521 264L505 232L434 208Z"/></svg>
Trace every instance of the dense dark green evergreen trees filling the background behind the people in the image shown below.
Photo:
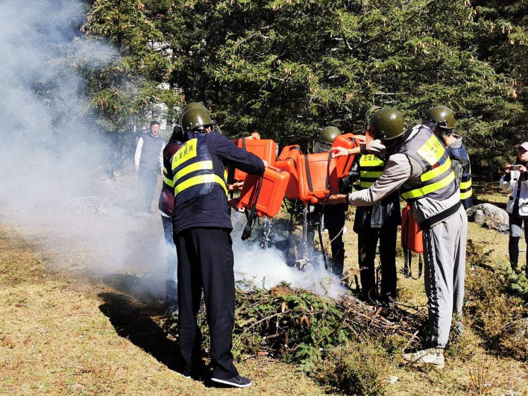
<svg viewBox="0 0 528 396"><path fill-rule="evenodd" d="M507 3L97 0L85 30L124 58L93 103L111 118L163 102L175 119L182 101L202 101L230 137L257 125L305 149L327 125L361 133L371 105L409 125L446 105L474 173L489 175L511 161L525 120L526 6ZM111 82L131 75L144 85L125 104Z"/></svg>

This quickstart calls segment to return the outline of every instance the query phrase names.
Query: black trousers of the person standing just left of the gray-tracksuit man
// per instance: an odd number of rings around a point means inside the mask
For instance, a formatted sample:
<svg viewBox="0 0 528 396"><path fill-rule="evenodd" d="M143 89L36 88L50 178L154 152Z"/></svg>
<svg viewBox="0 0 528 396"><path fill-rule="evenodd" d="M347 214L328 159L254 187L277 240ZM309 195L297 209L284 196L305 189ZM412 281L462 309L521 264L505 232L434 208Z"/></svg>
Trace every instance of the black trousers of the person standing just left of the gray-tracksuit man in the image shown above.
<svg viewBox="0 0 528 396"><path fill-rule="evenodd" d="M357 234L357 261L360 265L361 289L365 297L375 298L376 279L374 259L380 241L381 290L380 299L391 304L396 298L396 239L398 225L381 228L365 227Z"/></svg>

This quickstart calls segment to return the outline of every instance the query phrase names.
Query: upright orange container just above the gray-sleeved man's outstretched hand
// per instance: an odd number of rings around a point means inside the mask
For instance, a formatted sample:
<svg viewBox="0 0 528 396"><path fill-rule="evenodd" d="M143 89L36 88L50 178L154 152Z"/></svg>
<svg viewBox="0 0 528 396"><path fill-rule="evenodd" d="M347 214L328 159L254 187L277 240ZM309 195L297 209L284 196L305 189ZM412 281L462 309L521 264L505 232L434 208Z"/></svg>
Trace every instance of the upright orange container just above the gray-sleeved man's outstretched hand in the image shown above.
<svg viewBox="0 0 528 396"><path fill-rule="evenodd" d="M301 154L297 157L299 199L317 203L339 191L335 158L332 153Z"/></svg>

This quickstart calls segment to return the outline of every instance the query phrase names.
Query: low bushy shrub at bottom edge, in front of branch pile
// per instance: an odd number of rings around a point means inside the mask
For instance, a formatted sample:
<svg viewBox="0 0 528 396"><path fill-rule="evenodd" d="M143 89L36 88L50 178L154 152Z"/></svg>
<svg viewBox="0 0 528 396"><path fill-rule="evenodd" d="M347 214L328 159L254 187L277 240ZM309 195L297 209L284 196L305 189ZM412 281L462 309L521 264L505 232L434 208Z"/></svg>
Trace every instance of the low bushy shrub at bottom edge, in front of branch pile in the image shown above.
<svg viewBox="0 0 528 396"><path fill-rule="evenodd" d="M372 341L347 342L319 360L312 375L343 394L379 396L388 386L389 359Z"/></svg>

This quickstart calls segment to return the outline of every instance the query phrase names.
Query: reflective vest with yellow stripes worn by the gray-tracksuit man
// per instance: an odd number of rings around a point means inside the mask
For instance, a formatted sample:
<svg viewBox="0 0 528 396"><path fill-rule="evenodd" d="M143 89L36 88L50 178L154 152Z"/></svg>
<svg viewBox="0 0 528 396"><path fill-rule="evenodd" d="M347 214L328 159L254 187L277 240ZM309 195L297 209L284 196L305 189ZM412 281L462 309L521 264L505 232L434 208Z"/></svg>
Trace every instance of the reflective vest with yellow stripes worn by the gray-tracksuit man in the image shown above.
<svg viewBox="0 0 528 396"><path fill-rule="evenodd" d="M418 132L395 149L422 166L418 177L409 178L400 187L403 199L412 202L422 197L443 201L458 191L451 159L440 139L432 131L417 126Z"/></svg>

